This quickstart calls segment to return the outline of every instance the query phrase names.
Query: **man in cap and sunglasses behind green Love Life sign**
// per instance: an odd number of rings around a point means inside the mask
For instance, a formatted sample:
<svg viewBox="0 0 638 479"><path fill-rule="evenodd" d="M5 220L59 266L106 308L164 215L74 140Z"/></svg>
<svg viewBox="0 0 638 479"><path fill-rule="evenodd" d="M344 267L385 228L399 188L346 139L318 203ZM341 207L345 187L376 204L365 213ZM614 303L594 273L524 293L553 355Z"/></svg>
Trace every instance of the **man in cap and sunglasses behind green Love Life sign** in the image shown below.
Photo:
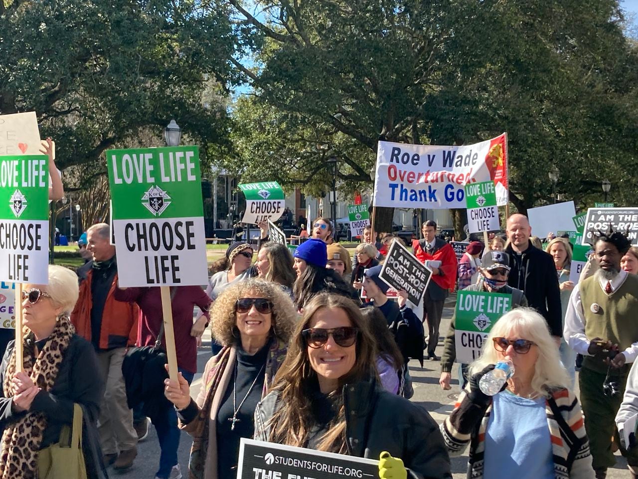
<svg viewBox="0 0 638 479"><path fill-rule="evenodd" d="M513 288L507 284L510 274L510 255L503 251L489 251L483 257L482 266L479 267L479 282L471 284L464 291L487 291L487 293L503 293L512 295L512 309L526 307L527 299L520 289ZM450 321L450 329L447 331L445 342L443 342L443 356L441 356L441 378L439 384L444 390L452 389L450 379L452 379L452 365L456 360L456 314ZM461 374L459 374L459 385L461 389L466 383L466 372L468 365L461 364Z"/></svg>

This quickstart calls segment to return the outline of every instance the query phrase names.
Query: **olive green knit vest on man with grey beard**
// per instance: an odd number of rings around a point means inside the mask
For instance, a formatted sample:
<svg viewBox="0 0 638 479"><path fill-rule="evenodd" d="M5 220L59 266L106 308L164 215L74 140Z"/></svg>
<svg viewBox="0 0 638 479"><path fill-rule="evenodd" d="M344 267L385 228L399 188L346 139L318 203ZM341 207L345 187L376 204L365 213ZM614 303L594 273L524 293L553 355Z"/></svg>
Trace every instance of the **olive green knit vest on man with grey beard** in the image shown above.
<svg viewBox="0 0 638 479"><path fill-rule="evenodd" d="M585 316L585 335L588 339L603 338L618 344L619 351L625 351L633 342L638 341L638 276L628 274L623 284L609 296L600 287L598 277L582 280L582 312ZM591 305L598 305L598 312ZM605 354L585 356L582 366L598 372L607 372L604 363ZM630 365L614 370L615 374L627 374Z"/></svg>

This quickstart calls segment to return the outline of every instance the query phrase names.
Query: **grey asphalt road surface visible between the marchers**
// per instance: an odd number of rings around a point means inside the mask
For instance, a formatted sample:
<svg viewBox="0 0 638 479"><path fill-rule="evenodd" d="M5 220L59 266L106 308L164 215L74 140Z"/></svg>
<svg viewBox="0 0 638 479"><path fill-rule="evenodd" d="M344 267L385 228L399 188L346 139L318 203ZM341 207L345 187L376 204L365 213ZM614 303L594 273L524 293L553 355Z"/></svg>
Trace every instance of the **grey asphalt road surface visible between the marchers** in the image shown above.
<svg viewBox="0 0 638 479"><path fill-rule="evenodd" d="M443 319L441 320L441 334L447 331L450 317L452 316L452 308L454 307L454 298L449 298L449 304L446 305ZM204 347L198 353L198 371L204 370L206 361L211 357L210 353L210 333L207 331L204 336ZM439 342L437 354L441 354L442 342ZM413 402L420 404L429 411L437 422L443 419L452 411L452 404L459 393L459 385L457 381L453 381L451 391L443 391L438 384L440 376L439 364L434 361L425 361L424 367L420 367L417 361L410 362L410 374L412 375L414 384ZM193 388L191 392L193 396L197 395L200 388L200 374L195 376ZM454 376L454 375L453 375ZM188 456L191 446L191 439L188 434L182 433L181 442L179 444L179 463L182 472L188 471ZM617 453L618 454L618 453ZM467 455L452 458L452 474L454 479L462 479L466 477ZM109 469L109 475L112 478L121 479L152 479L157 471L159 463L159 445L154 428L150 427L149 436L138 445L138 456L135 464L125 473L116 473L112 468ZM188 477L184 474L184 477ZM623 457L618 456L618 462L615 468L608 471L608 479L629 479L630 475L627 471L627 462Z"/></svg>

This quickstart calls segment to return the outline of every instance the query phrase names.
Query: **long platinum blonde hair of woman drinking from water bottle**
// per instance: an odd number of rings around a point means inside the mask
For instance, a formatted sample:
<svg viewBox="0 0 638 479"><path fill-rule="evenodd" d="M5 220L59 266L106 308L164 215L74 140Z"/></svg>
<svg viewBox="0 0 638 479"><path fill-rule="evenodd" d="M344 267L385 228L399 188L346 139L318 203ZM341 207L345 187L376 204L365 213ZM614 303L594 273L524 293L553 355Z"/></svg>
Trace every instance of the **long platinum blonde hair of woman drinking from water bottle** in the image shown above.
<svg viewBox="0 0 638 479"><path fill-rule="evenodd" d="M516 331L522 339L533 342L538 348L538 360L531 379L533 391L540 396L549 397L549 390L568 388L570 379L567 370L561 365L556 342L549 334L545 318L533 308L516 308L496 321L483 343L480 358L470 365L470 376L487 365L498 362L493 338L506 337L512 331Z"/></svg>

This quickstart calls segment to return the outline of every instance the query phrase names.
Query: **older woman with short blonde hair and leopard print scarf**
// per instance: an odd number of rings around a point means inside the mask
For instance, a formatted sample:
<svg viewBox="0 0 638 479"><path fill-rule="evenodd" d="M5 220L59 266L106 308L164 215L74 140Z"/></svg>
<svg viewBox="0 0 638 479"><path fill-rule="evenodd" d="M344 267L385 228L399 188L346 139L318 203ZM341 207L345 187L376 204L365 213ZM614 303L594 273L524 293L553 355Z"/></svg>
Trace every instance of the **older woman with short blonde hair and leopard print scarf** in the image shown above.
<svg viewBox="0 0 638 479"><path fill-rule="evenodd" d="M90 478L106 477L96 422L103 395L93 346L69 319L78 298L77 276L48 267L48 284L25 284L23 371L10 342L0 368L0 479L38 478L38 455L73 423L73 404L84 416L82 452Z"/></svg>

